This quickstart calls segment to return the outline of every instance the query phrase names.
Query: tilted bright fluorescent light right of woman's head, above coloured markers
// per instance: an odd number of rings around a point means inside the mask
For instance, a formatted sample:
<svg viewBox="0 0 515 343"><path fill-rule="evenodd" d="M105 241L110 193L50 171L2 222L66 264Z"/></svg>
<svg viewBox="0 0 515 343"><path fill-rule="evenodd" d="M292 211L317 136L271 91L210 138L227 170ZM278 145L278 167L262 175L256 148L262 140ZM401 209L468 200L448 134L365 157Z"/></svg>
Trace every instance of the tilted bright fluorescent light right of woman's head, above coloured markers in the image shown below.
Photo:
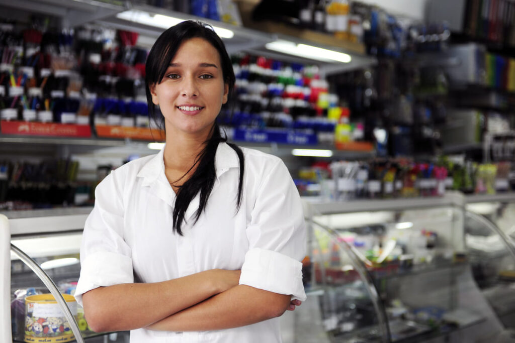
<svg viewBox="0 0 515 343"><path fill-rule="evenodd" d="M349 63L352 58L347 53L338 52L329 49L317 48L306 44L295 44L294 42L277 40L275 42L265 44L269 50L287 53L288 55L299 56L303 58L314 59L323 62L342 62Z"/></svg>

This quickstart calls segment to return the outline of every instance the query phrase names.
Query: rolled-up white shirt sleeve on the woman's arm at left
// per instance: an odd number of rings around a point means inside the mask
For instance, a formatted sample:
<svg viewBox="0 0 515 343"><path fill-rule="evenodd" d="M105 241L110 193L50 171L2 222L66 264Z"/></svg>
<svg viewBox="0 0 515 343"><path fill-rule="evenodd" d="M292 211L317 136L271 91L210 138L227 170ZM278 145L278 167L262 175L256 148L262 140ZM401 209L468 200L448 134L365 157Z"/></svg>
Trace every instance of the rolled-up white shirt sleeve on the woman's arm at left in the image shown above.
<svg viewBox="0 0 515 343"><path fill-rule="evenodd" d="M123 235L121 185L111 173L95 190L95 207L84 225L75 299L97 287L132 283L131 250Z"/></svg>

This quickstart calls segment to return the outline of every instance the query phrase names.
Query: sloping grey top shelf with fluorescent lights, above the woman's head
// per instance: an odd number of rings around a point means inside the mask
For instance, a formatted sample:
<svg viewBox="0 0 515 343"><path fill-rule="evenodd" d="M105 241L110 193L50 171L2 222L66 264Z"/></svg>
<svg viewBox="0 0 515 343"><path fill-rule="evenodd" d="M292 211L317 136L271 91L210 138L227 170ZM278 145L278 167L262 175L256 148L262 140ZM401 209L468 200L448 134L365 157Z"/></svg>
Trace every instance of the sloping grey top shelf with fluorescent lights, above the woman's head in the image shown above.
<svg viewBox="0 0 515 343"><path fill-rule="evenodd" d="M266 43L276 41L280 38L296 44L306 43L317 47L325 47L336 51L346 52L351 55L352 61L350 63L321 63L320 61L310 59L300 59L304 63L319 64L323 74L350 70L376 63L374 58L365 55L363 44L337 40L328 34L311 31L304 31L299 34L298 30L287 26L270 27L266 25L265 29L268 28L268 32L264 32L258 29L234 26L202 17L196 17L187 13L170 11L147 5L139 5L131 1L21 0L11 2L9 0L0 0L0 5L6 8L15 8L24 11L30 9L32 12L57 16L62 20L63 27L76 27L85 23L93 23L116 29L136 31L140 33L138 45L144 48L150 48L156 38L164 31L164 28L124 20L119 17L119 14L124 11L131 10L146 13L150 16L160 14L175 17L180 20L200 20L213 26L229 29L234 32L233 38L224 39L229 53L252 50L259 51L265 56L267 53L274 55L274 52L270 52L264 46ZM261 25L259 27L261 27ZM280 30L284 30L285 33L282 33ZM283 55L283 58L299 60L299 58L288 55Z"/></svg>

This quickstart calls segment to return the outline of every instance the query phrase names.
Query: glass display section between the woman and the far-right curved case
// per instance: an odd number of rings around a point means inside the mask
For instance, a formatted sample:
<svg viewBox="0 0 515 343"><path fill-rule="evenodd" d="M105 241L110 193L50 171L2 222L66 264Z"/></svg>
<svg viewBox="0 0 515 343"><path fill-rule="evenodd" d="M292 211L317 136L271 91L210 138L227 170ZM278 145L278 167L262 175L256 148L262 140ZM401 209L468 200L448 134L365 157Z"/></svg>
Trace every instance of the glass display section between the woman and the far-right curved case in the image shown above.
<svg viewBox="0 0 515 343"><path fill-rule="evenodd" d="M314 216L312 279L330 340L476 341L501 332L472 277L464 220L460 206Z"/></svg>

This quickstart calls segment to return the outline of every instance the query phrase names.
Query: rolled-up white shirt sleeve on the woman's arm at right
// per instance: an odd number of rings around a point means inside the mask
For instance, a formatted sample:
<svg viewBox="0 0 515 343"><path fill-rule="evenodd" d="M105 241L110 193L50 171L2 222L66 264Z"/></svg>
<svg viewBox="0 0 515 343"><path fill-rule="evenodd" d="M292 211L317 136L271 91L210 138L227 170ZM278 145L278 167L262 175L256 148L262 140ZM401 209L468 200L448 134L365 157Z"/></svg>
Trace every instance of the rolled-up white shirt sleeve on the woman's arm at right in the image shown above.
<svg viewBox="0 0 515 343"><path fill-rule="evenodd" d="M300 196L281 160L263 175L247 227L249 251L239 283L303 301L306 234Z"/></svg>

